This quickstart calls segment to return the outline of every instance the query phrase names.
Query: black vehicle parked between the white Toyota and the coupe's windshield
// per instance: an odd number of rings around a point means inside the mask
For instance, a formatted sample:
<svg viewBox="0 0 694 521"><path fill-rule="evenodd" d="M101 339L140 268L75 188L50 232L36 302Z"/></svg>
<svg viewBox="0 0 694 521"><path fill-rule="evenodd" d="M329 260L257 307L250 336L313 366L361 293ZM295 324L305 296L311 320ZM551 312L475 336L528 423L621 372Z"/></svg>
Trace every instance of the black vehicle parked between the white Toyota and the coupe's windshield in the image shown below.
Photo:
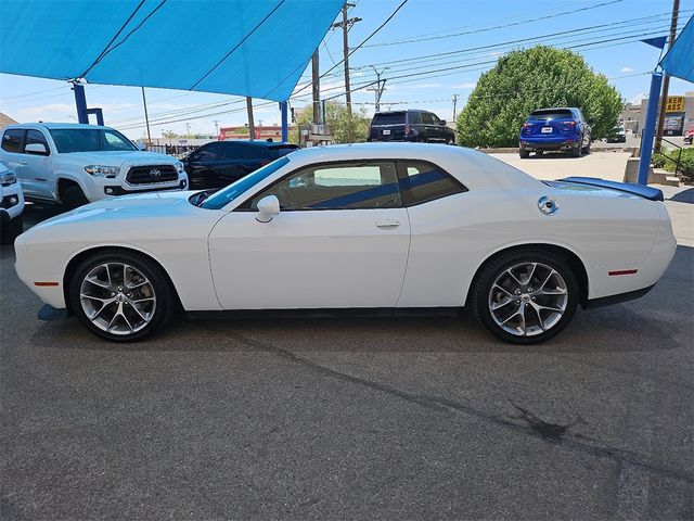
<svg viewBox="0 0 694 521"><path fill-rule="evenodd" d="M181 161L191 190L221 188L297 149L296 144L272 141L215 141Z"/></svg>

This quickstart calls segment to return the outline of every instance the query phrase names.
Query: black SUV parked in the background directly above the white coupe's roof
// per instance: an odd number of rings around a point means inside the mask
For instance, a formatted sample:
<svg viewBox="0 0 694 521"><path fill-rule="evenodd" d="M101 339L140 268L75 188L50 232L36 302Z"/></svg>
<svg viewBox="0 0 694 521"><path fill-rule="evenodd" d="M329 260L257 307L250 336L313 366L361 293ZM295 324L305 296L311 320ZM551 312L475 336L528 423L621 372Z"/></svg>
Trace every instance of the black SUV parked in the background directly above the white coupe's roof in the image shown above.
<svg viewBox="0 0 694 521"><path fill-rule="evenodd" d="M427 111L376 112L368 141L436 141L453 144L455 132L444 119Z"/></svg>

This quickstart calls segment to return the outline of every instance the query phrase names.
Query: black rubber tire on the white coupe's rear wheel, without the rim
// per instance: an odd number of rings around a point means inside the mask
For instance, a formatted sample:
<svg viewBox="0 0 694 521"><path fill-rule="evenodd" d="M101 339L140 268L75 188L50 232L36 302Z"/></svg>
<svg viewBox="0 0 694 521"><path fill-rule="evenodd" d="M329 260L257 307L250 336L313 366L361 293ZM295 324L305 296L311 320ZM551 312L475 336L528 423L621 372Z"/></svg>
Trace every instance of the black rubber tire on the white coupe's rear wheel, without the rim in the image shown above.
<svg viewBox="0 0 694 521"><path fill-rule="evenodd" d="M551 327L548 329L540 328L542 332L537 333L531 331L531 334L529 335L522 335L520 333L511 333L506 331L497 322L497 320L494 320L494 317L492 316L492 312L490 309L491 307L490 301L492 298L492 294L491 294L492 287L498 288L494 285L494 282L497 281L497 279L501 277L507 269L511 269L517 265L523 265L524 263L528 263L528 264L539 263L543 265L542 269L544 269L544 267L550 267L551 269L555 270L561 276L562 282L565 283L565 290L566 290L565 302L564 302L565 308L564 308L564 313L561 315L561 318L558 318L558 320L553 322ZM548 271L540 272L539 267L536 269L536 271L537 271L537 275L534 275L534 277L538 277L538 278L543 278L543 274L548 272ZM541 282L540 283L537 282L537 279L531 279L529 283L542 285L542 288L544 288L544 285L541 284ZM504 293L506 292L504 291ZM552 339L553 336L555 336L556 334L558 334L564 328L566 328L566 326L568 326L568 323L571 321L571 318L574 317L574 314L576 313L576 307L579 301L579 293L580 291L579 291L579 284L578 284L578 279L576 277L576 274L574 274L574 271L571 270L571 267L563 257L555 255L554 253L551 253L551 252L528 247L527 250L514 250L505 254L502 253L491 258L490 260L488 260L481 267L480 271L475 278L475 281L473 282L473 287L471 289L471 294L467 303L471 306L472 313L475 316L475 318L491 334L512 344L528 345L528 344L539 344L541 342L545 342ZM500 294L500 293L497 293L497 294ZM552 295L550 296L553 297ZM515 297L515 294L514 294L514 297ZM520 298L520 296L518 296L518 298ZM538 301L536 301L536 297L532 297L532 301L535 301L540 306L544 306L545 304L549 305L547 302L542 301L542 298L548 298L548 297L537 296L537 298ZM514 298L509 298L509 300L513 301ZM519 306L519 305L520 303L510 302L509 306L511 307L506 313L509 313L509 315L512 315L515 312L515 314L518 315L520 313L519 307L514 308L513 306ZM528 305L535 307L534 303L528 302L527 304L524 305L524 308ZM530 308L528 307L528 309ZM532 314L536 314L536 315L532 316ZM532 327L531 320L536 319L536 317L539 317L540 312L526 312L523 317L524 327L527 323L526 316L529 319L528 322L530 322ZM551 317L554 317L554 315L552 315ZM538 320L536 319L535 323L537 322Z"/></svg>

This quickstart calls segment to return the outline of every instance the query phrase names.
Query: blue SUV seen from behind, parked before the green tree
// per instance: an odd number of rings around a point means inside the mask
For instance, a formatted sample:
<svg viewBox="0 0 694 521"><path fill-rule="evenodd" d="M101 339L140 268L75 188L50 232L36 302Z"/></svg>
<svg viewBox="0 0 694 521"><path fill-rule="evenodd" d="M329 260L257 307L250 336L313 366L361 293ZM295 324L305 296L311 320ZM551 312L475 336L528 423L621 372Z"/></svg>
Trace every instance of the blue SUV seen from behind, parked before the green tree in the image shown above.
<svg viewBox="0 0 694 521"><path fill-rule="evenodd" d="M580 109L540 109L526 118L518 143L520 157L545 150L568 151L574 157L590 152L590 125Z"/></svg>

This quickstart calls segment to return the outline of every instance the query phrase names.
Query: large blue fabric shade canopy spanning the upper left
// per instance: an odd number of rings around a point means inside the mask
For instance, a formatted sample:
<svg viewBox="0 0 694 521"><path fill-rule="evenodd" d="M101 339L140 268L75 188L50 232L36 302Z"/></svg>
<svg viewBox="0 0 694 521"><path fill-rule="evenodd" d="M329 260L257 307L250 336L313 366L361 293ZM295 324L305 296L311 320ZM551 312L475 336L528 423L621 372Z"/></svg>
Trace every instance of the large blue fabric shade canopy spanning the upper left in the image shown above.
<svg viewBox="0 0 694 521"><path fill-rule="evenodd" d="M0 0L0 72L290 98L342 0Z"/></svg>

